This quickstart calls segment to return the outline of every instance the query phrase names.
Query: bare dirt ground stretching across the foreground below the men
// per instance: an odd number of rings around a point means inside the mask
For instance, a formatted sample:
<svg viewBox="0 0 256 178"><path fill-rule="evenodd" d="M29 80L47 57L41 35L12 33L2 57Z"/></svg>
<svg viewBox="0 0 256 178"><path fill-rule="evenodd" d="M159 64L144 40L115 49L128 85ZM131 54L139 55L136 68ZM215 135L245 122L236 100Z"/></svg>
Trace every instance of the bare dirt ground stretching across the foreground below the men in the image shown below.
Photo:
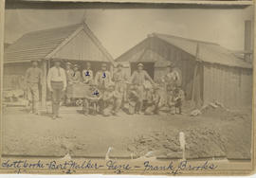
<svg viewBox="0 0 256 178"><path fill-rule="evenodd" d="M8 107L3 115L5 155L76 157L181 156L179 133L186 139L187 158L249 159L251 111L209 109L200 116L82 116L64 107L62 118L28 115Z"/></svg>

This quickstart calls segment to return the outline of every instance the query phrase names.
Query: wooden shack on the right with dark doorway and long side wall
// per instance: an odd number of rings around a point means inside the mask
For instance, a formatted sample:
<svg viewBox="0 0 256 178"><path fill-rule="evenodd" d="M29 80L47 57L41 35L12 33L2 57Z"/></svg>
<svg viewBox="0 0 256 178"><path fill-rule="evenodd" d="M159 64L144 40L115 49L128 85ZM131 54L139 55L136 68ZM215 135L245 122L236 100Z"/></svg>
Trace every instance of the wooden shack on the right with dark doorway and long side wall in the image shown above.
<svg viewBox="0 0 256 178"><path fill-rule="evenodd" d="M217 44L153 33L116 61L130 62L131 71L135 63L145 63L145 69L156 81L173 62L181 70L186 99L198 107L214 101L229 108L252 103L251 64Z"/></svg>

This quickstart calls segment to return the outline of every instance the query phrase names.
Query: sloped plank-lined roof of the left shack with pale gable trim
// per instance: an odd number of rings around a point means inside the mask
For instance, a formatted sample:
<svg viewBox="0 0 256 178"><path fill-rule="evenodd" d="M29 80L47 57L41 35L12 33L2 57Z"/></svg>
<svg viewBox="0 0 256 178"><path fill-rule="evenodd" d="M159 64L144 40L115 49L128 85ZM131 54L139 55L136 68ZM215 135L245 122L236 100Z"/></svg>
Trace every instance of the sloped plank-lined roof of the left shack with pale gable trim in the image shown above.
<svg viewBox="0 0 256 178"><path fill-rule="evenodd" d="M26 62L31 60L48 59L58 50L60 45L67 43L76 33L84 30L110 62L113 58L101 45L101 42L85 24L76 24L66 27L55 27L45 30L32 31L23 35L14 44L5 50L4 62Z"/></svg>

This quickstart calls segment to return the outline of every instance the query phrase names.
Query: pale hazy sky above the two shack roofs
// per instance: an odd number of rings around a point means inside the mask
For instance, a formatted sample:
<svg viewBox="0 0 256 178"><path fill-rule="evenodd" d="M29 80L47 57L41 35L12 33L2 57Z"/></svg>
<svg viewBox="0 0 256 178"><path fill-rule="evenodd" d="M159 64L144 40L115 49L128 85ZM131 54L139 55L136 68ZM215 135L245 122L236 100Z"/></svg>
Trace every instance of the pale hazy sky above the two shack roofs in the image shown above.
<svg viewBox="0 0 256 178"><path fill-rule="evenodd" d="M244 49L246 9L7 9L5 43L23 34L62 27L83 20L116 59L157 32L217 43L232 50Z"/></svg>

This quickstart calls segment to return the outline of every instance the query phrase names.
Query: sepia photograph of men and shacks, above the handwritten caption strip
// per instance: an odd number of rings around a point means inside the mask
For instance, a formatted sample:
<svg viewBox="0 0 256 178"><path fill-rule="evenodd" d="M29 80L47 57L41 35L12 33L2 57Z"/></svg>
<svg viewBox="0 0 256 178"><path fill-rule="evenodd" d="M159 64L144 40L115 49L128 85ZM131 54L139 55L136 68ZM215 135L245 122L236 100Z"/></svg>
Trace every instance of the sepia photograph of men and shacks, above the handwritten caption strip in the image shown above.
<svg viewBox="0 0 256 178"><path fill-rule="evenodd" d="M4 30L2 158L251 164L253 6L12 7Z"/></svg>

